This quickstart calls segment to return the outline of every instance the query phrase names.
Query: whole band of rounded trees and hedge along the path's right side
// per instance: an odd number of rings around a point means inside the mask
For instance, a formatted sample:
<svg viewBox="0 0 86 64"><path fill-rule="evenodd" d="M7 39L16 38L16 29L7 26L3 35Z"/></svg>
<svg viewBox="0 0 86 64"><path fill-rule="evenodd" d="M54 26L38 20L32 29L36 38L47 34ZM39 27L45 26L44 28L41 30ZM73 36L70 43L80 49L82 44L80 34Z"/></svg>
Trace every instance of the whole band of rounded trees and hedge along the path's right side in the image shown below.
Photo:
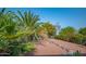
<svg viewBox="0 0 86 64"><path fill-rule="evenodd" d="M56 39L61 39L86 46L85 28L81 28L76 33L76 30L73 27L65 27L61 29L59 35L56 35Z"/></svg>

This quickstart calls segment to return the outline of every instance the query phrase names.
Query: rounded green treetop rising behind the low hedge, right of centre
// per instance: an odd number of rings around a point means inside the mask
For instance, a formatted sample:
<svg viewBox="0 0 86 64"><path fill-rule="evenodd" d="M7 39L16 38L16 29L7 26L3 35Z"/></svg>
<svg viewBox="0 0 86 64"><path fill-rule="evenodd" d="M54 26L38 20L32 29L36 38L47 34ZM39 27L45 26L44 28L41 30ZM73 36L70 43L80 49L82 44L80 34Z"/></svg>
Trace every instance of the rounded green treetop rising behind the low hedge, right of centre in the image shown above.
<svg viewBox="0 0 86 64"><path fill-rule="evenodd" d="M59 33L58 38L70 41L71 37L75 35L75 29L73 27L62 28Z"/></svg>

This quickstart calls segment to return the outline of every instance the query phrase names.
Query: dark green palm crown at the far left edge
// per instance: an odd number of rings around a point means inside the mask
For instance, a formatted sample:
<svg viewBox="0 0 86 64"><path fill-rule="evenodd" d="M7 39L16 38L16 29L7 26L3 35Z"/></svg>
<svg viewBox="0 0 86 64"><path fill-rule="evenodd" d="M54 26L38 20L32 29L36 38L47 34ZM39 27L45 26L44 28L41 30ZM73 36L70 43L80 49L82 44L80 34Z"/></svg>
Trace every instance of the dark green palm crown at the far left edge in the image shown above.
<svg viewBox="0 0 86 64"><path fill-rule="evenodd" d="M5 9L0 11L0 31L12 34L15 28L14 17L10 12L5 12Z"/></svg>

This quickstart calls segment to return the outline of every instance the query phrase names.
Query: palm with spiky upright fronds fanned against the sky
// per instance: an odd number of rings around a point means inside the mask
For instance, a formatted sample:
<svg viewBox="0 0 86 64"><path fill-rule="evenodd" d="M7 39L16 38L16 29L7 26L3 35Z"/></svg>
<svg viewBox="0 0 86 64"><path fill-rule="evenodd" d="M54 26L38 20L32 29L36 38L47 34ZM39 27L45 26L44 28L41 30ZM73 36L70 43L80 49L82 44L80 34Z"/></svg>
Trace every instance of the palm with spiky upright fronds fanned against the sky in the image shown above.
<svg viewBox="0 0 86 64"><path fill-rule="evenodd" d="M39 16L33 14L30 11L29 12L24 12L22 13L21 11L17 11L17 21L20 22L20 29L30 31L32 35L29 37L29 40L33 39L34 37L37 39L37 29L39 28L40 24Z"/></svg>

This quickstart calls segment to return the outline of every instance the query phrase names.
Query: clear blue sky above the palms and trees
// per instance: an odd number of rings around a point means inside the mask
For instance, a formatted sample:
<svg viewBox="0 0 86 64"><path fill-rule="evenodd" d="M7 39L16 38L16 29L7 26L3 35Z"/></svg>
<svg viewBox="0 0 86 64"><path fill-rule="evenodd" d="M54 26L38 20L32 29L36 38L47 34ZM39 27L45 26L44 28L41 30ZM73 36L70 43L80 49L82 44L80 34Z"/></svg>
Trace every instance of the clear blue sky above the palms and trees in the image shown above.
<svg viewBox="0 0 86 64"><path fill-rule="evenodd" d="M86 9L85 8L17 8L8 9L16 12L20 10L32 11L38 14L41 22L59 24L62 28L73 26L74 28L86 27Z"/></svg>

